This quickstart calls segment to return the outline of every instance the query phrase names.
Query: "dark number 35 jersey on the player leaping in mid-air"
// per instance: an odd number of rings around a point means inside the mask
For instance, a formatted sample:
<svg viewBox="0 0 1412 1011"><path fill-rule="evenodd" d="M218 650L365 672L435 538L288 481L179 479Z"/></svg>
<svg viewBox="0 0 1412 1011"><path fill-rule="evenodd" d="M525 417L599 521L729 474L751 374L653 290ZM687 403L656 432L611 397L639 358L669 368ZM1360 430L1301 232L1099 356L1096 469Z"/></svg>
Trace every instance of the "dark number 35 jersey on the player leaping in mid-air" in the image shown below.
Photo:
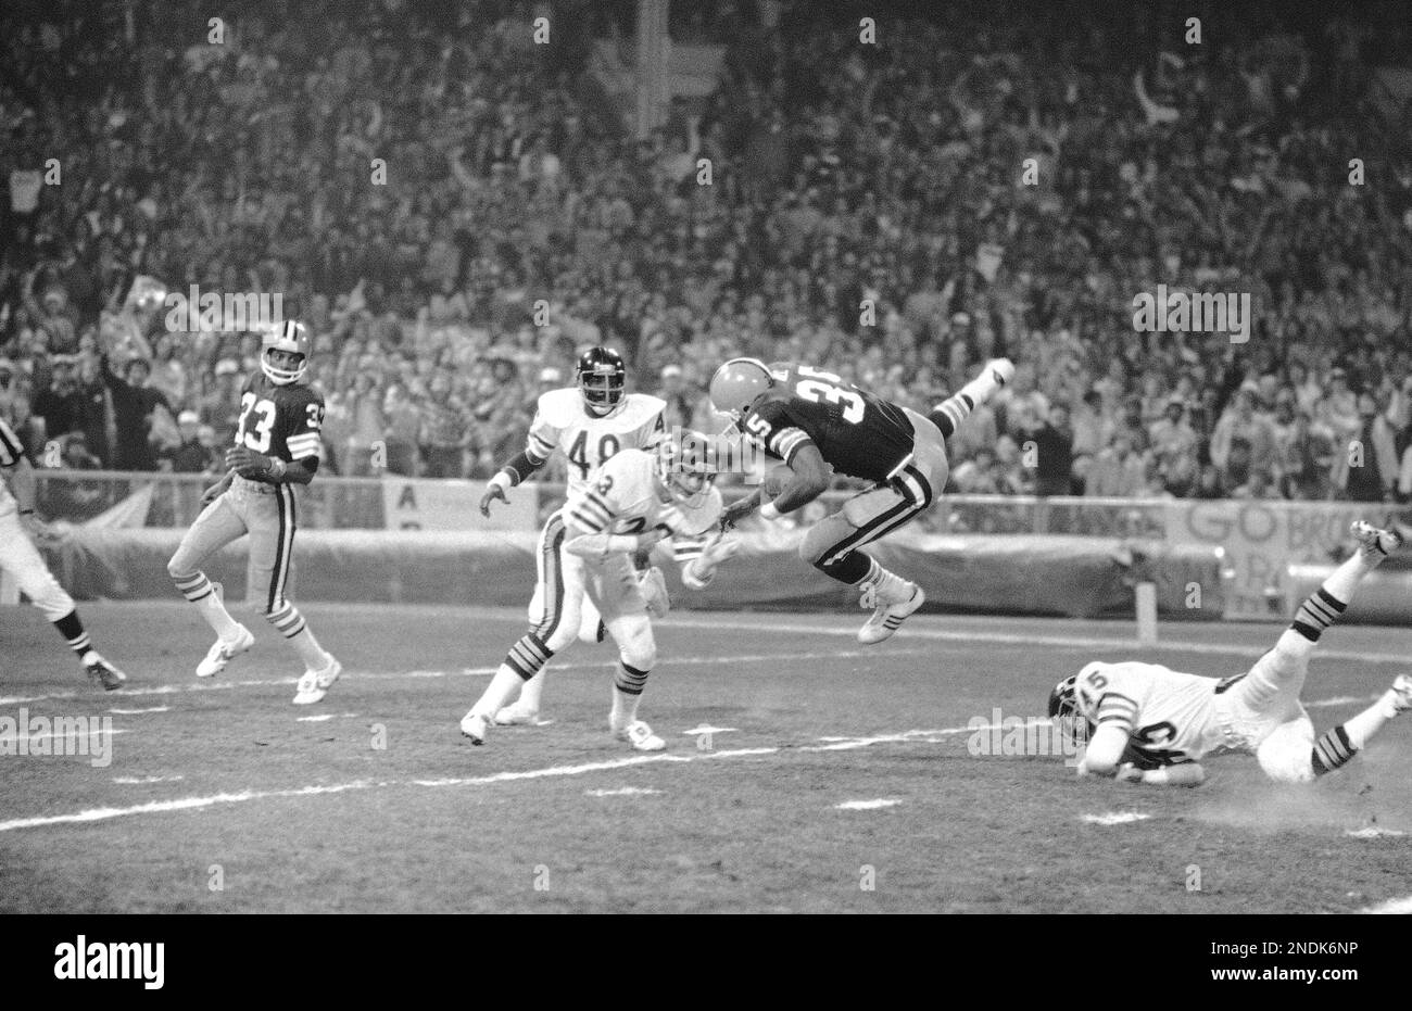
<svg viewBox="0 0 1412 1011"><path fill-rule="evenodd" d="M912 421L897 404L809 366L774 366L771 376L741 426L785 463L812 442L836 472L885 481L911 456Z"/></svg>

